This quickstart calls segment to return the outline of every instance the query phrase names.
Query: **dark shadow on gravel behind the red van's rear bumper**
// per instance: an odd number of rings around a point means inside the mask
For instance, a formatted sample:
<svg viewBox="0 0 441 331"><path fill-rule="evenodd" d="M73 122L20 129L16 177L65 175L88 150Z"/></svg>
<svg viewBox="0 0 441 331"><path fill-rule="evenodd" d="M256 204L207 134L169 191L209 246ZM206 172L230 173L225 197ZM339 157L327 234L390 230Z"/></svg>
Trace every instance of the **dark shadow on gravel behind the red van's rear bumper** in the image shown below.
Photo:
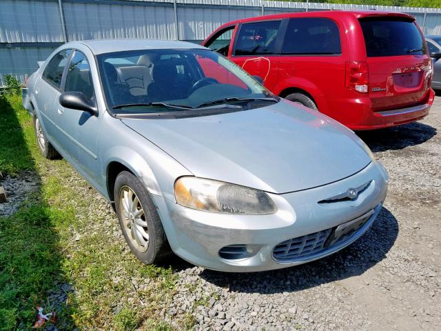
<svg viewBox="0 0 441 331"><path fill-rule="evenodd" d="M427 124L413 122L394 128L356 132L372 152L401 150L408 146L419 145L434 137L437 130Z"/></svg>

